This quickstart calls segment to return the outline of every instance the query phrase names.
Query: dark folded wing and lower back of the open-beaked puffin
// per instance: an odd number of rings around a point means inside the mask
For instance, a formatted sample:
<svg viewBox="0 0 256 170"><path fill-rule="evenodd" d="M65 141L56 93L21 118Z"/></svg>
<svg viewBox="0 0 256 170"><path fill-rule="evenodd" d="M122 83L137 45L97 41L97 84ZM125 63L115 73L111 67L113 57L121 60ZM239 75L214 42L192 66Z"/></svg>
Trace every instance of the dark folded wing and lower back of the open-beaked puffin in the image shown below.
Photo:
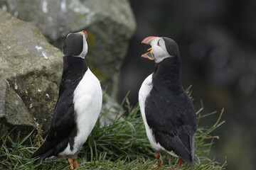
<svg viewBox="0 0 256 170"><path fill-rule="evenodd" d="M153 87L146 98L145 114L156 142L189 164L194 164L196 111L186 92L180 89L173 93Z"/></svg>

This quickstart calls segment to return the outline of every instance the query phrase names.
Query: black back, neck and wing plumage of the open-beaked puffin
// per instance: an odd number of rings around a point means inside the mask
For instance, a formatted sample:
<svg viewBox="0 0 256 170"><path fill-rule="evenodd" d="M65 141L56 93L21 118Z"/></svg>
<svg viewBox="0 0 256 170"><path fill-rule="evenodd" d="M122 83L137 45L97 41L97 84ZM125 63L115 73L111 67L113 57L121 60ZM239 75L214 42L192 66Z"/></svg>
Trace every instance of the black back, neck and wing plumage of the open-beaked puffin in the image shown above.
<svg viewBox="0 0 256 170"><path fill-rule="evenodd" d="M178 50L170 55L175 56L156 64L152 76L153 88L145 103L146 122L156 142L185 162L194 164L196 111L181 85Z"/></svg>

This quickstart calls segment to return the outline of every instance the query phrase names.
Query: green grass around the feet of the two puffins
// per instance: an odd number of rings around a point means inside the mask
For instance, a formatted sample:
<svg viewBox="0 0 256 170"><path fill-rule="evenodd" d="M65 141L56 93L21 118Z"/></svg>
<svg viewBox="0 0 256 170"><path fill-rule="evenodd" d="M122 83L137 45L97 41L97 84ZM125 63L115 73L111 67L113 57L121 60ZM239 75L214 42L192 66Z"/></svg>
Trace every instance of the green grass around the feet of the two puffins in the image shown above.
<svg viewBox="0 0 256 170"><path fill-rule="evenodd" d="M124 100L120 106L124 106ZM123 116L122 109L117 111L117 118L111 125L100 127L100 118L94 130L87 139L84 147L78 155L79 169L151 169L156 164L154 152L146 137L144 124L139 115L139 106L130 108L129 115ZM198 111L198 120L215 113L201 115ZM209 127L199 127L196 132L196 166L183 163L181 170L221 170L225 169L226 162L220 164L213 159L207 158L213 140L217 136L210 133L224 123L220 122L221 115L216 123ZM104 114L103 114L104 115ZM11 132L1 136L0 139L0 169L69 169L65 159L46 160L43 164L33 166L31 154L36 151L43 140L41 129L31 132L26 137L18 135L11 139ZM164 165L172 169L176 168L177 159L166 153L161 153ZM163 168L161 168L163 169Z"/></svg>

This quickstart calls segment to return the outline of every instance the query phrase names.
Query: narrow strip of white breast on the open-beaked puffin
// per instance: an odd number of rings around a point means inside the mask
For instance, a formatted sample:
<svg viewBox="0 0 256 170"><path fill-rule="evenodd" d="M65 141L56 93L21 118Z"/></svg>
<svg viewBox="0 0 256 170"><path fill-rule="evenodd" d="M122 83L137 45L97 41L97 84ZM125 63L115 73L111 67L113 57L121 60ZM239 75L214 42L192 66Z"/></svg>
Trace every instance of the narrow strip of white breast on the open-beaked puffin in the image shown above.
<svg viewBox="0 0 256 170"><path fill-rule="evenodd" d="M166 149L164 149L164 147L161 147L161 145L158 142L156 142L155 137L152 133L152 130L149 127L148 123L146 122L146 115L145 115L146 98L149 96L149 93L152 88L153 88L152 74L150 74L149 77L146 77L146 79L143 81L142 86L139 89L139 108L142 113L142 119L146 128L146 136L149 139L150 145L155 152L159 152L161 150L166 150ZM174 157L177 157L177 155L174 154L174 152L168 152L168 153L173 155Z"/></svg>

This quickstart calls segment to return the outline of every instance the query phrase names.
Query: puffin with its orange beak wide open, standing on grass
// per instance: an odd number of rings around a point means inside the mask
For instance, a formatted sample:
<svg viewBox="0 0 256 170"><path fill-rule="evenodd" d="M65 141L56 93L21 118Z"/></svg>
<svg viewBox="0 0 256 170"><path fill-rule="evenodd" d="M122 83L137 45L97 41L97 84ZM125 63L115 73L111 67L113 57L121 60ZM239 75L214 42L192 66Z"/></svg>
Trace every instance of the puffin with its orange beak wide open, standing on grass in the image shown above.
<svg viewBox="0 0 256 170"><path fill-rule="evenodd" d="M160 152L196 164L194 157L196 111L181 84L181 57L171 38L150 36L142 43L151 45L142 57L154 60L154 72L139 89L139 106L151 147L161 167Z"/></svg>

